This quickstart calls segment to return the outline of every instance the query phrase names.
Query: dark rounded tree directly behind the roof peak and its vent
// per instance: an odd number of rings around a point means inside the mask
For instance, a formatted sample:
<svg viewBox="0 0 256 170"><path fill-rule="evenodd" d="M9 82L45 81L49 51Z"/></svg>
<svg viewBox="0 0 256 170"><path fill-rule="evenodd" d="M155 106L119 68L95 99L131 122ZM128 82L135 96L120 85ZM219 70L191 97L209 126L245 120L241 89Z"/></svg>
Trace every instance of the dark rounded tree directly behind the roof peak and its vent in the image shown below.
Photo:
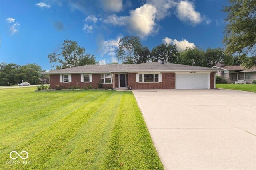
<svg viewBox="0 0 256 170"><path fill-rule="evenodd" d="M164 58L165 62L176 63L178 50L176 45L161 44L152 49L152 61L159 61Z"/></svg>

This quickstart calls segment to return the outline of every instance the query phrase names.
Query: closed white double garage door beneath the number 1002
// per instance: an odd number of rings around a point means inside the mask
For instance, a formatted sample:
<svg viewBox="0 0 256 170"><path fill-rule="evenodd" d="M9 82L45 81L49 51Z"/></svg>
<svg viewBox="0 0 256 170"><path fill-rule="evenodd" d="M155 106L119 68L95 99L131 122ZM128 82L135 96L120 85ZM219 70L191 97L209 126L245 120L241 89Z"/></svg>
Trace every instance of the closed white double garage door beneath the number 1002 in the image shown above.
<svg viewBox="0 0 256 170"><path fill-rule="evenodd" d="M199 89L210 87L210 75L206 74L176 74L176 89Z"/></svg>

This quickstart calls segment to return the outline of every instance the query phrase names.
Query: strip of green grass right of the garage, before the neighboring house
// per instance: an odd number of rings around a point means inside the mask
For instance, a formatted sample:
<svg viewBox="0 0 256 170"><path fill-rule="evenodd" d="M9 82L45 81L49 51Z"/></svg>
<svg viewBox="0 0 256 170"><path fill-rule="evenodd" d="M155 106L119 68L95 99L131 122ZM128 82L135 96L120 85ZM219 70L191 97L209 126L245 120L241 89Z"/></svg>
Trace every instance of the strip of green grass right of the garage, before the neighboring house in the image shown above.
<svg viewBox="0 0 256 170"><path fill-rule="evenodd" d="M227 88L256 93L256 84L216 84L216 88Z"/></svg>

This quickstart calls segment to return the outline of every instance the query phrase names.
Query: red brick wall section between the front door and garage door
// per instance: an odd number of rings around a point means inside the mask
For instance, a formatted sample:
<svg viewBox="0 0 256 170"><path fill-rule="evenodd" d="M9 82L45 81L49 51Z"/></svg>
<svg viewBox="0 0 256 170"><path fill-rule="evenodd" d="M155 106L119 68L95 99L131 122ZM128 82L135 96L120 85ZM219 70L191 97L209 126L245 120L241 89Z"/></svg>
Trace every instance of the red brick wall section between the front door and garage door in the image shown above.
<svg viewBox="0 0 256 170"><path fill-rule="evenodd" d="M128 73L128 79L133 89L175 89L175 73L162 73L160 83L136 83L136 73Z"/></svg>

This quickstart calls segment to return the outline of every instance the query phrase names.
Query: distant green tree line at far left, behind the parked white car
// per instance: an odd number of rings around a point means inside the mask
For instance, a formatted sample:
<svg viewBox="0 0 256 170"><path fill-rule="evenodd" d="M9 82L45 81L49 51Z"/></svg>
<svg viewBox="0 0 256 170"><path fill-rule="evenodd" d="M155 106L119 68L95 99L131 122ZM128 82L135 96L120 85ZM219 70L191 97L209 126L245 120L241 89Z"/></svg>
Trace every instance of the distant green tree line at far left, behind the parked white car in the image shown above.
<svg viewBox="0 0 256 170"><path fill-rule="evenodd" d="M23 66L14 63L0 63L0 86L14 85L16 83L29 82L38 84L39 78L49 80L49 76L41 74L44 72L38 64L26 64Z"/></svg>

